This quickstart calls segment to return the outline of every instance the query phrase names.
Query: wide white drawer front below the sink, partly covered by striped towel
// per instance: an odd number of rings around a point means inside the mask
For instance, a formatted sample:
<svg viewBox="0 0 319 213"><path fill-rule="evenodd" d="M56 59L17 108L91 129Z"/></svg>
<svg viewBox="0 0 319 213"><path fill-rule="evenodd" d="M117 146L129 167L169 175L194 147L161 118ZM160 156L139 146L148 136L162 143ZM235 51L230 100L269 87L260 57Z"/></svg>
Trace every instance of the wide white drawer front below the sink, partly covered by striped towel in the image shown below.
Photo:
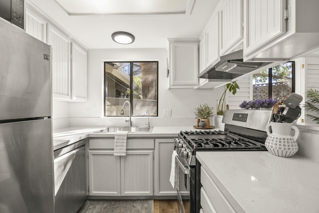
<svg viewBox="0 0 319 213"><path fill-rule="evenodd" d="M154 139L128 139L126 149L154 149ZM114 149L114 139L90 139L89 149Z"/></svg>

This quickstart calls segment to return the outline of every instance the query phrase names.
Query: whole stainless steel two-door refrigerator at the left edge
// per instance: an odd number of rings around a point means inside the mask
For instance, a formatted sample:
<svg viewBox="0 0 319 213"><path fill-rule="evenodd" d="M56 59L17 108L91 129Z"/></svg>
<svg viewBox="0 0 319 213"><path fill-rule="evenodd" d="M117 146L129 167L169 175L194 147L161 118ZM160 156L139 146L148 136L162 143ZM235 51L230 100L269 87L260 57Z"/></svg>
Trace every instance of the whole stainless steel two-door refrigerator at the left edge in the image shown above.
<svg viewBox="0 0 319 213"><path fill-rule="evenodd" d="M54 212L50 55L0 19L0 213Z"/></svg>

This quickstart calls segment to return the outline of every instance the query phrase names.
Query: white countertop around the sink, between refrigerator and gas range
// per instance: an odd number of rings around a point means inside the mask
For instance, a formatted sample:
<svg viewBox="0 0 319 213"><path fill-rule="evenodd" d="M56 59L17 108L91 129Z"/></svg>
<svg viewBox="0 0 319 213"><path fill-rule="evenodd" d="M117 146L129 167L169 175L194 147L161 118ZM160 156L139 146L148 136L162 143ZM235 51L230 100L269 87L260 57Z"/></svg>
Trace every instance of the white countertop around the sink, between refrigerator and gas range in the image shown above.
<svg viewBox="0 0 319 213"><path fill-rule="evenodd" d="M53 150L60 149L87 137L111 137L115 132L94 133L105 127L69 127L53 131ZM180 131L192 130L196 131L192 126L165 126L153 127L152 132L129 132L128 138L132 137L177 137Z"/></svg>

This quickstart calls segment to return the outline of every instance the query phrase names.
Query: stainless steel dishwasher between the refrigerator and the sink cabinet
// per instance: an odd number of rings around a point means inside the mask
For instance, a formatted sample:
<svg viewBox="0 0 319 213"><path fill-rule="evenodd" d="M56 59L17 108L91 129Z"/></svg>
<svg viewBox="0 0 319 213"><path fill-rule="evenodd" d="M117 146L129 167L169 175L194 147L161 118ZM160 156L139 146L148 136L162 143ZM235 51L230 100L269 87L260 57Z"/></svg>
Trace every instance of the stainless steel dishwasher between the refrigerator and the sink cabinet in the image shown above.
<svg viewBox="0 0 319 213"><path fill-rule="evenodd" d="M54 151L55 213L76 213L86 201L84 140Z"/></svg>

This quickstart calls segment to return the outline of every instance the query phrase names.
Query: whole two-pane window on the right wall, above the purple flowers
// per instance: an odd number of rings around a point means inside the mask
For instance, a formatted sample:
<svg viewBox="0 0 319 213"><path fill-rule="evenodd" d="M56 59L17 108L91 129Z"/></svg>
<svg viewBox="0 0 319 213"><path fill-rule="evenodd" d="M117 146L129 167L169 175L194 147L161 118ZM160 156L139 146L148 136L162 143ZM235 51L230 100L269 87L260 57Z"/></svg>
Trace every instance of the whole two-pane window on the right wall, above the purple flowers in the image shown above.
<svg viewBox="0 0 319 213"><path fill-rule="evenodd" d="M288 61L253 74L253 100L285 100L295 92L295 62Z"/></svg>

